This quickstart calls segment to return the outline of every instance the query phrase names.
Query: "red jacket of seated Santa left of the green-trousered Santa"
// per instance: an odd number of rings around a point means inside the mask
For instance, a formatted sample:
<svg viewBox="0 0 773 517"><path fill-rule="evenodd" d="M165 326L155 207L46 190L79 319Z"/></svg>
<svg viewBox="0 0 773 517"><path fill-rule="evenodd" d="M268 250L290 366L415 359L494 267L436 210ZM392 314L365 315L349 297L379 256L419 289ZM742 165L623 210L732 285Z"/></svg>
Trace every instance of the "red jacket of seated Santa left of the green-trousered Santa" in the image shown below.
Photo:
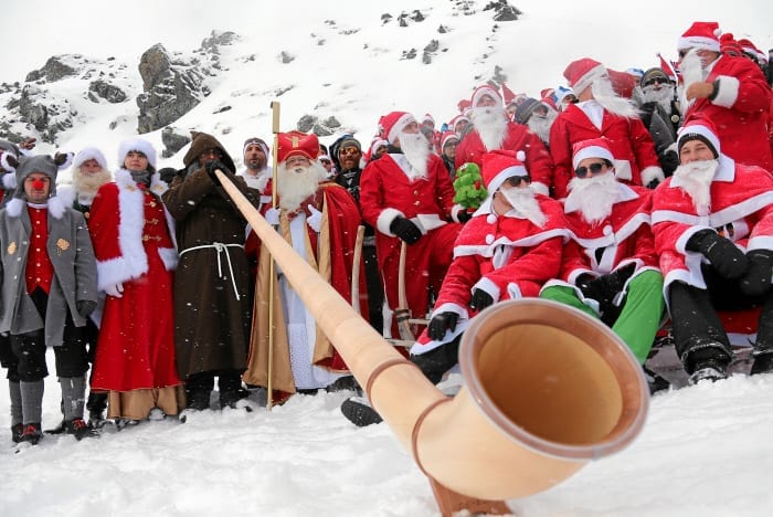
<svg viewBox="0 0 773 517"><path fill-rule="evenodd" d="M561 204L536 194L546 223L537 226L510 210L497 215L491 198L480 205L459 232L454 245L454 262L443 281L434 313L459 315L455 330L433 340L425 329L411 355L427 352L460 335L477 315L468 307L474 289L483 289L493 300L537 296L542 284L558 276L561 246L566 238Z"/></svg>

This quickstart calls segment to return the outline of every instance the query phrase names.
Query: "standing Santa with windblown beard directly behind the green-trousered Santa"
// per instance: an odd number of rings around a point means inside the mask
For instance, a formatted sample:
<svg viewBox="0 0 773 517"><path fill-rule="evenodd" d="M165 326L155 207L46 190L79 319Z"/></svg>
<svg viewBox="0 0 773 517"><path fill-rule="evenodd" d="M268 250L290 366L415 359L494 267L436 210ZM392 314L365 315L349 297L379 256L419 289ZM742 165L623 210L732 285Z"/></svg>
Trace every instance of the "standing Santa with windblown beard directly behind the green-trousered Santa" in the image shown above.
<svg viewBox="0 0 773 517"><path fill-rule="evenodd" d="M615 92L606 67L583 57L570 63L563 76L579 102L566 106L550 130L554 197L564 199L569 193L568 186L574 177L572 147L593 138L607 138L620 181L649 188L663 181L665 175L653 138L633 101Z"/></svg>

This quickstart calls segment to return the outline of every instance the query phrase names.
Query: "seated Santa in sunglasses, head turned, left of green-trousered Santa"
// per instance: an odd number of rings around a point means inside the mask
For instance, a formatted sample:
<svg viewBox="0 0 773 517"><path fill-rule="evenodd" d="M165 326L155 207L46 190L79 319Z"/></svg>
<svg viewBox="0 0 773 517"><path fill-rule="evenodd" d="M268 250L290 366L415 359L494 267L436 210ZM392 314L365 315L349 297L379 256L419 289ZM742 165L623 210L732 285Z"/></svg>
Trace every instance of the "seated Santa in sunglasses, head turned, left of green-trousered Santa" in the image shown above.
<svg viewBox="0 0 773 517"><path fill-rule="evenodd" d="M432 318L411 347L411 361L437 383L458 360L462 335L486 307L534 297L558 276L568 236L561 204L532 189L523 154L495 150L483 157L487 198L462 229ZM362 398L341 404L359 426L381 422Z"/></svg>

